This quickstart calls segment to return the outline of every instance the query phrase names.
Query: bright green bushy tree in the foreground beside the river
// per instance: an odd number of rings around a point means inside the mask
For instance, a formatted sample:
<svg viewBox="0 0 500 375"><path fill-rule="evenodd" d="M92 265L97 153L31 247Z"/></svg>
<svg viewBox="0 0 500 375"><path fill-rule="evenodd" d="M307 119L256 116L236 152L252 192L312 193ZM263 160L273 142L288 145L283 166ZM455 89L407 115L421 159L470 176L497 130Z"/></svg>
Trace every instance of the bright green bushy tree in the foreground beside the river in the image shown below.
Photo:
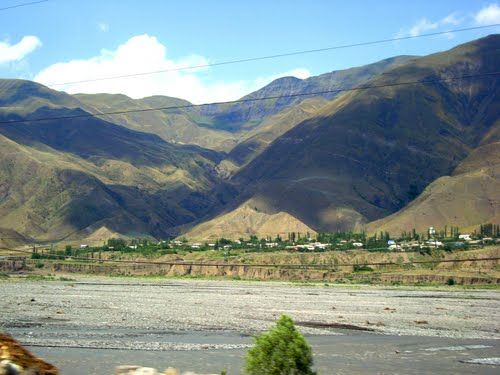
<svg viewBox="0 0 500 375"><path fill-rule="evenodd" d="M256 337L246 357L250 375L314 375L312 364L311 347L286 315L270 331Z"/></svg>

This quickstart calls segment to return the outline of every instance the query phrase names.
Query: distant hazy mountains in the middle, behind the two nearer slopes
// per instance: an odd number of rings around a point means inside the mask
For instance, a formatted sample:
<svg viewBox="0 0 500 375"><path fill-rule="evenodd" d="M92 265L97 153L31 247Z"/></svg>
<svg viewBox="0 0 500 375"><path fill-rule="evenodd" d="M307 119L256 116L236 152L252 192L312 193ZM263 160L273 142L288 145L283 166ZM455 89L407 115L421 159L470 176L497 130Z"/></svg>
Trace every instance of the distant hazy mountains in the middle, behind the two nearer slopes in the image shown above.
<svg viewBox="0 0 500 375"><path fill-rule="evenodd" d="M355 86L373 75L401 65L411 58L411 56L398 56L374 64L334 71L305 80L284 77L245 96L243 99ZM314 97L313 100L320 101L335 96L336 93L324 94ZM166 96L153 96L137 100L125 95L115 94L78 94L74 95L74 97L92 113L144 110L189 104L185 100ZM195 144L214 150L230 151L238 143L244 142L245 144L236 150L228 160L235 162L236 159L240 158L240 154L246 152L248 153L248 160L246 160L248 162L264 148L263 146L269 140L274 140L284 132L283 118L291 117L291 114L282 114L280 112L293 108L294 105L304 100L310 101L311 97L283 98L273 101L211 105L201 108L179 108L165 111L141 111L108 115L102 118L129 129L156 134L168 142ZM308 106L310 104L304 105L304 107ZM294 125L305 118L299 118L298 111L295 112L295 119L291 119ZM274 121L278 122L276 130L272 129ZM289 129L291 125L287 125L287 127ZM262 129L265 134L258 135L259 129ZM256 144L258 144L257 147L255 147ZM250 150L253 151L249 153ZM237 162L237 164L241 163Z"/></svg>

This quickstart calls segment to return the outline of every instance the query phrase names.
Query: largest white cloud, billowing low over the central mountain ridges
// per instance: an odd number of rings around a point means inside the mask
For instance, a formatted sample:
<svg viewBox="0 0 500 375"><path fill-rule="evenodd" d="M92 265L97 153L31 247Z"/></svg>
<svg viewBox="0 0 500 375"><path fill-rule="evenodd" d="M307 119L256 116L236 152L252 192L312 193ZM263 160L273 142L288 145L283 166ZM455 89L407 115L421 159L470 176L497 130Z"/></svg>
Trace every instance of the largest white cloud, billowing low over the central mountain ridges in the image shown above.
<svg viewBox="0 0 500 375"><path fill-rule="evenodd" d="M144 34L130 38L115 50L103 49L98 56L86 60L53 64L39 72L35 81L69 93L121 93L132 98L167 95L199 104L238 99L281 76L294 75L299 78L310 76L307 69L300 68L252 80L214 81L210 79L210 68L204 67L129 78L54 85L208 63L210 61L206 57L199 55L190 55L178 60L169 59L167 48L156 37Z"/></svg>

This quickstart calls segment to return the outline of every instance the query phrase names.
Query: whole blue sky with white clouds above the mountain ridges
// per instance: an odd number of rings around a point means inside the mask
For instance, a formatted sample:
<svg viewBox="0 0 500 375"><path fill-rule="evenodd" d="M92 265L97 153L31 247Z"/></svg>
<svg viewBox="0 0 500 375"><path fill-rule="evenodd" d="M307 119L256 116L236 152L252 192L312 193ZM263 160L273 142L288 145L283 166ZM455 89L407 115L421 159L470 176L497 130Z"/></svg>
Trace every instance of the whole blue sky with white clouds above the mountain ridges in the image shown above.
<svg viewBox="0 0 500 375"><path fill-rule="evenodd" d="M0 0L0 8L29 0ZM275 60L54 85L404 35L500 23L496 1L49 0L0 11L0 77L68 92L236 99L300 78L451 48L500 27Z"/></svg>

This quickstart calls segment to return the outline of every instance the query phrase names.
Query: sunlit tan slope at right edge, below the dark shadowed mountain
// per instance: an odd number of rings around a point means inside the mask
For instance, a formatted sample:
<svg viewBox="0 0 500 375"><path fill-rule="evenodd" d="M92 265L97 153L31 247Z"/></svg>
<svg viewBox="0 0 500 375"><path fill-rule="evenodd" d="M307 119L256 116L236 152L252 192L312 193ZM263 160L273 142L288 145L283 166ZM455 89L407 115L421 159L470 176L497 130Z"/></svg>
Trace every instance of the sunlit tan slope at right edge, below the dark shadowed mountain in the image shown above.
<svg viewBox="0 0 500 375"><path fill-rule="evenodd" d="M497 125L497 128L500 124ZM458 165L451 176L432 182L400 211L369 223L368 232L400 234L430 226L474 230L500 221L500 142L482 145Z"/></svg>

